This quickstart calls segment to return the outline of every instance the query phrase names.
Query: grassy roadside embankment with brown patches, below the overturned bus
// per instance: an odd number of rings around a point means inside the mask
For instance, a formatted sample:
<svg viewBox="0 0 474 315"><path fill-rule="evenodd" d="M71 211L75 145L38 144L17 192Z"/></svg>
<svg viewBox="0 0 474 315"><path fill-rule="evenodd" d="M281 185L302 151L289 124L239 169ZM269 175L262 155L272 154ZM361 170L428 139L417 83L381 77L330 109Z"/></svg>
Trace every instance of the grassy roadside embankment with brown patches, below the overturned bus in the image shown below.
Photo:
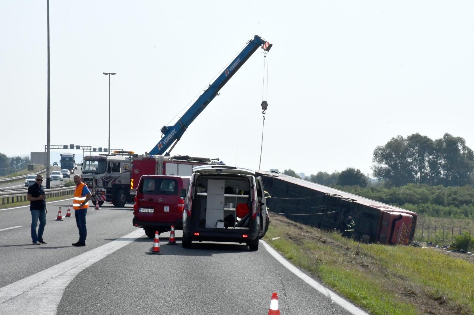
<svg viewBox="0 0 474 315"><path fill-rule="evenodd" d="M267 243L371 314L474 314L474 256L361 244L283 216L270 219Z"/></svg>

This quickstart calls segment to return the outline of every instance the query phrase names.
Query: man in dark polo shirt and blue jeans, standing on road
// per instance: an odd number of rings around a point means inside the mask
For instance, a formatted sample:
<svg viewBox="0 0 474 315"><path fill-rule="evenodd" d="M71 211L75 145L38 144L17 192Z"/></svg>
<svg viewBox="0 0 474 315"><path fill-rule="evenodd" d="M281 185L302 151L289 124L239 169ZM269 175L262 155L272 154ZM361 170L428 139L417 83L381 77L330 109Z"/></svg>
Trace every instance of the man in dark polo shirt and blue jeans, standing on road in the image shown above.
<svg viewBox="0 0 474 315"><path fill-rule="evenodd" d="M35 184L28 187L27 200L30 201L30 212L31 212L31 239L33 244L46 244L43 240L43 231L46 225L46 193L43 189L43 176L36 175ZM36 226L39 228L36 234Z"/></svg>

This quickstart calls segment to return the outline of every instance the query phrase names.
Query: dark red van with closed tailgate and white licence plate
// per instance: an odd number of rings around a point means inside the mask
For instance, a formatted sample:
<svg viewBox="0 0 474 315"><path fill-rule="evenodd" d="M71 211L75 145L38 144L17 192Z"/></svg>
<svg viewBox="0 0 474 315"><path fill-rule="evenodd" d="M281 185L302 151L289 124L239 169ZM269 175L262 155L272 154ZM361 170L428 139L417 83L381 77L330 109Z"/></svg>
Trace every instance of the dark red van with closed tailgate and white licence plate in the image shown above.
<svg viewBox="0 0 474 315"><path fill-rule="evenodd" d="M132 224L146 236L182 229L182 212L190 176L143 175L137 186Z"/></svg>

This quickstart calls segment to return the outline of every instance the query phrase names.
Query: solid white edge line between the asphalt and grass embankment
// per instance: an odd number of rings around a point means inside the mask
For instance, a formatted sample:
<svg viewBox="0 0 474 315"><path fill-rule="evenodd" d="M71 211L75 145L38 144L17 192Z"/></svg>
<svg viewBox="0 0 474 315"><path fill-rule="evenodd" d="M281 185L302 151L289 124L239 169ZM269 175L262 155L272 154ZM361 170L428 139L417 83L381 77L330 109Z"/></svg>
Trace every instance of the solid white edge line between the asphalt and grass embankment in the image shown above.
<svg viewBox="0 0 474 315"><path fill-rule="evenodd" d="M305 273L301 272L298 268L293 266L289 263L282 255L278 254L270 245L265 243L264 241L260 240L260 243L265 247L268 253L270 253L273 258L279 261L286 269L293 272L297 277L299 277L304 282L308 283L311 287L318 290L320 293L324 294L324 296L328 297L331 301L338 304L348 312L354 315L369 315L365 313L362 309L358 308L351 302L347 301L346 299L338 296L336 293L332 292L328 288L325 288L319 282L314 280L313 278L307 276Z"/></svg>

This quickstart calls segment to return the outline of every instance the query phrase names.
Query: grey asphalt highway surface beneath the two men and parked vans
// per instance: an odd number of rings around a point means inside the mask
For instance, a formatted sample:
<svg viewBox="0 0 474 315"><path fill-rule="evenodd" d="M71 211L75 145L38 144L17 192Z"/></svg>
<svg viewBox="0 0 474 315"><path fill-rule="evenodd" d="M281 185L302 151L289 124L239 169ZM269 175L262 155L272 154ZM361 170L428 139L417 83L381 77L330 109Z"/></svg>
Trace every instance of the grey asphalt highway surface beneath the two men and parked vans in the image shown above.
<svg viewBox="0 0 474 315"><path fill-rule="evenodd" d="M258 251L212 242L185 249L177 230L177 245L163 233L162 254L147 254L153 239L132 226L131 205L90 204L86 246L74 247L73 210L64 217L71 203L47 203L47 245L31 243L29 207L0 210L0 314L268 314L272 292L282 315L365 314L295 268L297 276L264 242Z"/></svg>

